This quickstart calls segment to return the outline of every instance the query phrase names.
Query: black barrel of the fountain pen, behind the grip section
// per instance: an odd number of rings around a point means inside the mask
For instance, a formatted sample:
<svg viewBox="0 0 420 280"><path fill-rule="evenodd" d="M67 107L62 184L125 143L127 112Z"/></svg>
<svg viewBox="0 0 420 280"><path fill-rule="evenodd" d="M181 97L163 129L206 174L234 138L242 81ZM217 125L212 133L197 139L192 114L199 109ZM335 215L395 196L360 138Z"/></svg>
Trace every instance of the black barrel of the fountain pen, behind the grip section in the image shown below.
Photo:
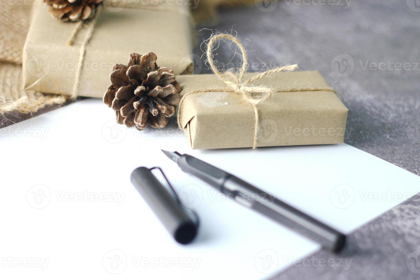
<svg viewBox="0 0 420 280"><path fill-rule="evenodd" d="M301 233L326 249L336 252L344 246L344 234L237 177L229 177L222 191L226 195L234 195L236 201L244 206Z"/></svg>

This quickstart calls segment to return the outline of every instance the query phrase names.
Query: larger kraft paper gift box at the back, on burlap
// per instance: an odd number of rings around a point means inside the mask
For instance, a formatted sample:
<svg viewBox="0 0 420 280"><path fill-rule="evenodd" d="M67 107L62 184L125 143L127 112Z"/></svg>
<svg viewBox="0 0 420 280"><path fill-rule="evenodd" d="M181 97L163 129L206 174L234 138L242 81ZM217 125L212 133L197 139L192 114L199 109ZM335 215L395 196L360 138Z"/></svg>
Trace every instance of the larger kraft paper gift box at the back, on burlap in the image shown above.
<svg viewBox="0 0 420 280"><path fill-rule="evenodd" d="M48 7L38 1L24 46L25 89L102 98L113 65L127 64L133 52L154 52L157 65L171 68L175 75L191 71L193 41L188 5L171 1L172 5L142 6L144 1L131 3L133 0L110 5L105 1L95 18L85 21L75 33L73 44L68 45L79 23L53 19Z"/></svg>

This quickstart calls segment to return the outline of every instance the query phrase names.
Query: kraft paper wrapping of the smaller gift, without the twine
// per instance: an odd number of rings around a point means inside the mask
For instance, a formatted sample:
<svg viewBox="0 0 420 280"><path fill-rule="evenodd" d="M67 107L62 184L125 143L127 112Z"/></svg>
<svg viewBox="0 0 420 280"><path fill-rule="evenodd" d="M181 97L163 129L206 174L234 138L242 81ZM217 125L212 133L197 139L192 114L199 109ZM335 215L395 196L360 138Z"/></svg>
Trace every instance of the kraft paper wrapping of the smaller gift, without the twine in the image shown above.
<svg viewBox="0 0 420 280"><path fill-rule="evenodd" d="M256 73L248 73L246 79ZM214 74L177 77L181 95L226 88ZM318 71L280 72L255 84L273 89L330 88ZM255 114L240 95L227 92L189 94L178 108L180 125L192 149L252 147ZM259 105L257 147L338 144L344 141L348 109L332 91L276 92Z"/></svg>

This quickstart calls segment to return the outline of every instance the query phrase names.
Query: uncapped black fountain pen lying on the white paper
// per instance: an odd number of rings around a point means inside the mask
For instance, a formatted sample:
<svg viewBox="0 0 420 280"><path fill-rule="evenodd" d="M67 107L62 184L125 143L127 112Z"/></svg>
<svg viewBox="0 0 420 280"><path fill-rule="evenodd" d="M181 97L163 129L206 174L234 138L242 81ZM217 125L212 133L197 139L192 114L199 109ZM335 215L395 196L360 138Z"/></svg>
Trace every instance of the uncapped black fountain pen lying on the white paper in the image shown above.
<svg viewBox="0 0 420 280"><path fill-rule="evenodd" d="M320 243L325 249L338 252L344 247L346 236L343 233L306 215L289 204L276 199L251 184L227 173L213 165L178 152L162 150L181 170L191 173L217 188L226 196L244 206L269 217L292 230Z"/></svg>

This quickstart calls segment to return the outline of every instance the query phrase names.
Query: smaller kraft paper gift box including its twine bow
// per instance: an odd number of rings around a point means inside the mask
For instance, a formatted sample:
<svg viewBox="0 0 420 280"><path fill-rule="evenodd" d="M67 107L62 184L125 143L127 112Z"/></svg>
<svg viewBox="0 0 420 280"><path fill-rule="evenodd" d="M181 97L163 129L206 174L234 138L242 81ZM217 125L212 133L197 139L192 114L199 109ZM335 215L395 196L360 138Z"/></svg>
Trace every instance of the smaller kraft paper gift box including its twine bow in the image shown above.
<svg viewBox="0 0 420 280"><path fill-rule="evenodd" d="M220 39L241 51L237 73L216 67ZM295 64L246 73L247 52L230 34L210 37L206 53L214 74L178 77L178 127L192 149L343 143L348 109L318 71L290 72Z"/></svg>

